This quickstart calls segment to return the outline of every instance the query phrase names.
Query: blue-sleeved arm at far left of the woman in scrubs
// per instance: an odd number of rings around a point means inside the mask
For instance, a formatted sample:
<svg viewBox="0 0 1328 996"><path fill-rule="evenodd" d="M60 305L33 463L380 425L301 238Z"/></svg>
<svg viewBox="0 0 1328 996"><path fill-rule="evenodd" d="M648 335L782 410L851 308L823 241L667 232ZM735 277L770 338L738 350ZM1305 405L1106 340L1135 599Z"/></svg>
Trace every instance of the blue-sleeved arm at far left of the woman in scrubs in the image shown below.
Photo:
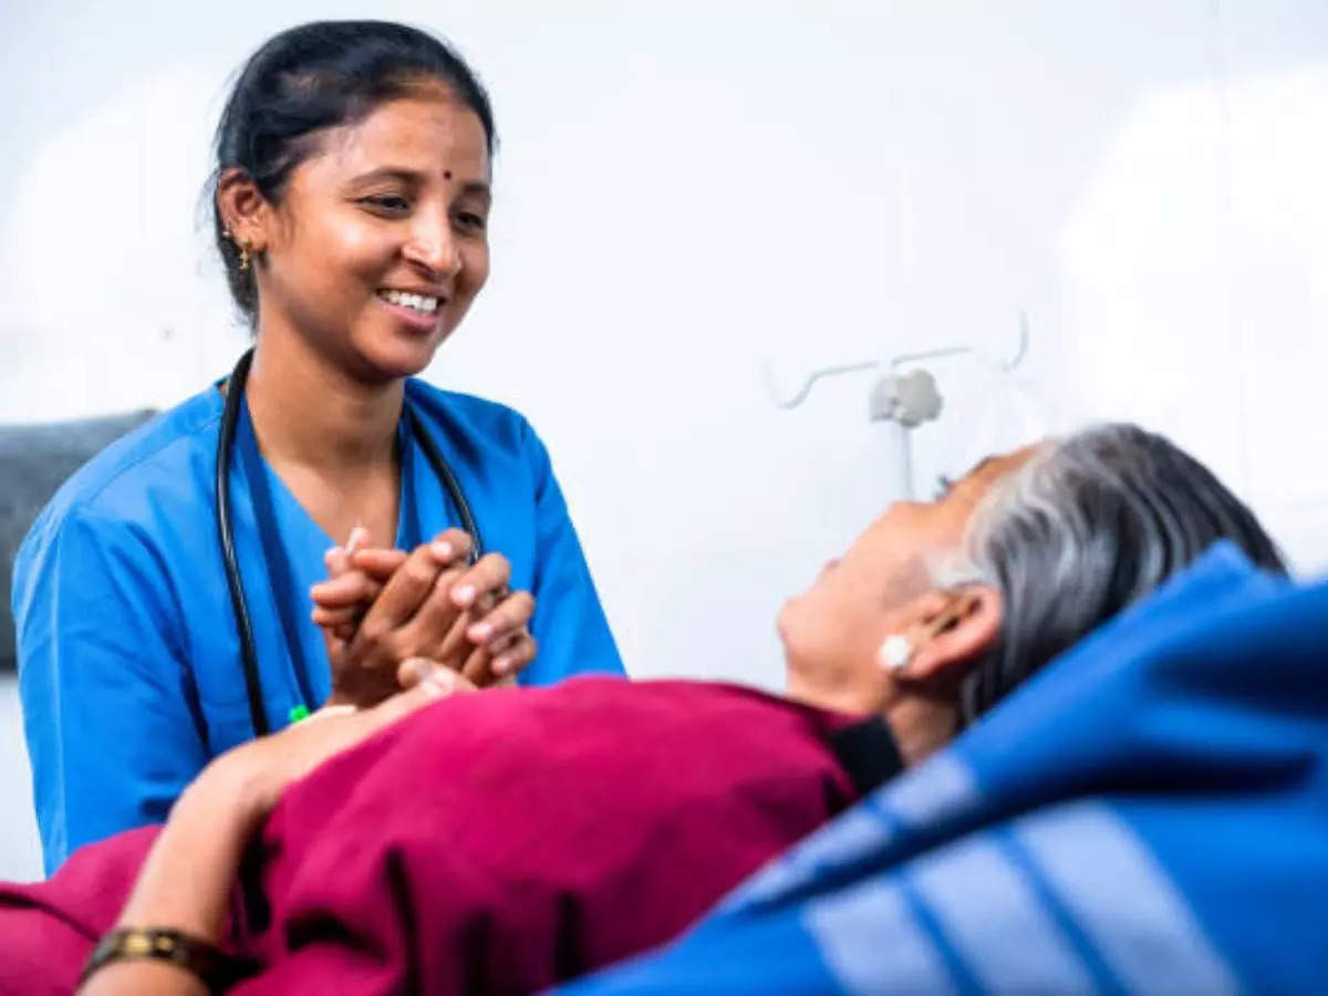
<svg viewBox="0 0 1328 996"><path fill-rule="evenodd" d="M78 846L159 822L207 762L182 608L150 542L76 509L15 567L24 730L48 874Z"/></svg>

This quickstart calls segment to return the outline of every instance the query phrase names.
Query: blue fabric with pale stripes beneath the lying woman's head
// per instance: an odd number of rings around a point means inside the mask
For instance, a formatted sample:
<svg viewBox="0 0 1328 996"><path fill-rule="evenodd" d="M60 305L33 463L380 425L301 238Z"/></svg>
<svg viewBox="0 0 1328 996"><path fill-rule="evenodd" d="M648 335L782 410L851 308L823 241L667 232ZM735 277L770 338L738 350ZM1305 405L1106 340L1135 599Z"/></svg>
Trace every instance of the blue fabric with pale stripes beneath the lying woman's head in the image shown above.
<svg viewBox="0 0 1328 996"><path fill-rule="evenodd" d="M608 992L1321 992L1328 583L1230 544Z"/></svg>

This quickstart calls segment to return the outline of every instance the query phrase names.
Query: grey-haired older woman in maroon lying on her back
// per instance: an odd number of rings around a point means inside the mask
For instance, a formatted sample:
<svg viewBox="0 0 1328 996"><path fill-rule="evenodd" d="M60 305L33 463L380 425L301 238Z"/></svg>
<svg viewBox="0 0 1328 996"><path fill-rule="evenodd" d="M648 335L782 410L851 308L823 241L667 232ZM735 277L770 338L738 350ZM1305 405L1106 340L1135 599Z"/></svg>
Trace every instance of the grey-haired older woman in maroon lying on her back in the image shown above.
<svg viewBox="0 0 1328 996"><path fill-rule="evenodd" d="M788 697L611 679L449 696L426 672L218 758L159 831L0 891L0 977L68 991L112 928L98 952L129 956L94 956L85 992L575 977L677 934L1220 538L1282 570L1239 501L1138 429L985 459L891 506L784 607Z"/></svg>

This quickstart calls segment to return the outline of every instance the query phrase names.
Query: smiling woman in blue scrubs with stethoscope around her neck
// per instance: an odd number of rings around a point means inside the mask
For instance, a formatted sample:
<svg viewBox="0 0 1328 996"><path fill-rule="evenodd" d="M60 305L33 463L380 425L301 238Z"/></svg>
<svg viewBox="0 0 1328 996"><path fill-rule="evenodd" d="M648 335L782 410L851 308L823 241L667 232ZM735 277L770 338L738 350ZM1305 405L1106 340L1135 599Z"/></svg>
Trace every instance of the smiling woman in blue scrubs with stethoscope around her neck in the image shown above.
<svg viewBox="0 0 1328 996"><path fill-rule="evenodd" d="M461 525L421 433L494 551L450 571L446 551L436 556L440 579L469 571L481 588L467 640L441 663L481 683L622 671L534 430L413 378L487 278L493 143L469 68L429 35L373 21L276 36L222 114L216 242L255 329L226 485L271 729L337 685L311 619L325 552L356 526L365 546L418 551ZM19 679L48 871L82 843L163 819L259 725L215 522L231 386L208 385L96 457L19 554ZM400 570L421 563L413 554ZM409 588L377 580L380 598ZM412 632L437 644L425 616L456 596L442 587L394 619L401 656L428 652Z"/></svg>

